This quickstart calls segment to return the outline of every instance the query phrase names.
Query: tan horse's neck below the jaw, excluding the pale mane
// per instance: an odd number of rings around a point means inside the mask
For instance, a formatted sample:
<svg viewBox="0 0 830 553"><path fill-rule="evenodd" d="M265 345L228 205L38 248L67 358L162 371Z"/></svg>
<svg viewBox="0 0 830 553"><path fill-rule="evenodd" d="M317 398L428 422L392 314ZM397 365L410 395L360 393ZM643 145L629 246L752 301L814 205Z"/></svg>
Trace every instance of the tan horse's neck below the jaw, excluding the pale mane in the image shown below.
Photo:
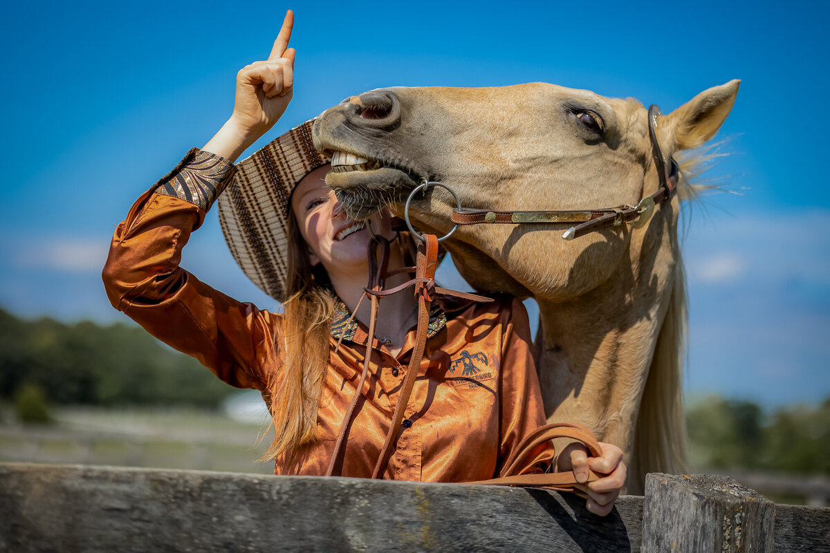
<svg viewBox="0 0 830 553"><path fill-rule="evenodd" d="M564 302L537 298L548 420L585 424L623 451L631 451L679 261L672 233L659 235L659 247L634 247L632 239L628 260L637 262L623 261L596 289Z"/></svg>

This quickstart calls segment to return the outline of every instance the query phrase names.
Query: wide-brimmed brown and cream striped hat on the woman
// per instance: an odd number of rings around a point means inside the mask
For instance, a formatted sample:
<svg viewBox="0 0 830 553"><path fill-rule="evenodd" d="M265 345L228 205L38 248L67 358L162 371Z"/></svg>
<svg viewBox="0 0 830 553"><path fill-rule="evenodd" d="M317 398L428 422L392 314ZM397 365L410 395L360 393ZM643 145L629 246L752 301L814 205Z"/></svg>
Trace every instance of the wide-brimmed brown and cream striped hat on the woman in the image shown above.
<svg viewBox="0 0 830 553"><path fill-rule="evenodd" d="M314 119L297 125L237 163L219 196L219 224L242 271L271 298L286 300L291 191L330 159L311 143Z"/></svg>

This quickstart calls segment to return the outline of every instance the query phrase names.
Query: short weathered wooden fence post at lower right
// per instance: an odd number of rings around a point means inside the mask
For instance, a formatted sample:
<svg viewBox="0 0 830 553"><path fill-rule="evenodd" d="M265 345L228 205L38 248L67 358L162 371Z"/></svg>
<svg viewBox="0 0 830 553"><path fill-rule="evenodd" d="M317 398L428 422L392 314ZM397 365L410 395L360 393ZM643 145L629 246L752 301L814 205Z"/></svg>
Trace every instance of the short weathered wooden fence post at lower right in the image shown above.
<svg viewBox="0 0 830 553"><path fill-rule="evenodd" d="M642 551L773 553L775 503L724 476L646 477Z"/></svg>

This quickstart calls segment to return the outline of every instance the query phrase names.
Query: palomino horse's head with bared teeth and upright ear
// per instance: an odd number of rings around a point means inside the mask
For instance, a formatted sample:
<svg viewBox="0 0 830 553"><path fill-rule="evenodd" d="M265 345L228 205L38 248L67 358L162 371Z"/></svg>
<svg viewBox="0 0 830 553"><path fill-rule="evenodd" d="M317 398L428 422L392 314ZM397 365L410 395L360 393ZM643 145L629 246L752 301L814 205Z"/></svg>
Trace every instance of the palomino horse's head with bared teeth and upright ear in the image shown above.
<svg viewBox="0 0 830 553"><path fill-rule="evenodd" d="M737 89L733 81L706 90L660 117L666 156L711 138ZM642 104L544 83L373 90L327 110L314 138L325 153L359 158L326 177L352 216L384 203L400 212L422 179L451 187L465 207L494 211L637 205L657 187ZM442 235L453 207L447 192L431 190L410 215L417 228ZM673 228L676 205L658 211ZM608 279L632 239L626 227L554 239L569 226L468 226L447 246L476 289L562 300Z"/></svg>

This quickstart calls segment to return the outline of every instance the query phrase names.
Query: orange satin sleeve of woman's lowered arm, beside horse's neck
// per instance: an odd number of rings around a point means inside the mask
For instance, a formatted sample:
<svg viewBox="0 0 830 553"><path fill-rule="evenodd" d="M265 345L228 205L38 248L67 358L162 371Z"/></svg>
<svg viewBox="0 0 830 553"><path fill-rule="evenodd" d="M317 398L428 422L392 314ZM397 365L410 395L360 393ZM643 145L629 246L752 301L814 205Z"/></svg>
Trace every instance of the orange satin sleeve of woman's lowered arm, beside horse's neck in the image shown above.
<svg viewBox="0 0 830 553"><path fill-rule="evenodd" d="M527 311L519 299L513 298L510 313L502 340L500 451L496 476L522 439L547 423ZM530 468L525 473L544 472L554 461L553 444L541 444L527 459Z"/></svg>

